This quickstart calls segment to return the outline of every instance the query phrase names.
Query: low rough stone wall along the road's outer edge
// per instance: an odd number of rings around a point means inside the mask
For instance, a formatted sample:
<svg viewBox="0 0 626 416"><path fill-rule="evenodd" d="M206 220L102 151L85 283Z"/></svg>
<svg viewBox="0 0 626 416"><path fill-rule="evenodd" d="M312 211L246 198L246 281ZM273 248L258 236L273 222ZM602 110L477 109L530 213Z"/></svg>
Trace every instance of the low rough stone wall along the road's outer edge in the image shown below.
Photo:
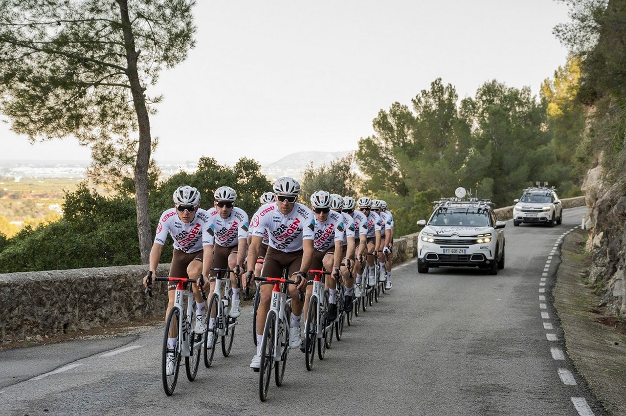
<svg viewBox="0 0 626 416"><path fill-rule="evenodd" d="M563 200L563 208L585 205L585 198ZM511 218L512 206L496 210ZM417 226L416 226L417 229ZM393 263L417 255L418 233L394 239ZM170 265L156 274L167 276ZM0 343L89 329L164 315L165 283L157 282L154 297L143 292L146 266L114 266L0 275Z"/></svg>

